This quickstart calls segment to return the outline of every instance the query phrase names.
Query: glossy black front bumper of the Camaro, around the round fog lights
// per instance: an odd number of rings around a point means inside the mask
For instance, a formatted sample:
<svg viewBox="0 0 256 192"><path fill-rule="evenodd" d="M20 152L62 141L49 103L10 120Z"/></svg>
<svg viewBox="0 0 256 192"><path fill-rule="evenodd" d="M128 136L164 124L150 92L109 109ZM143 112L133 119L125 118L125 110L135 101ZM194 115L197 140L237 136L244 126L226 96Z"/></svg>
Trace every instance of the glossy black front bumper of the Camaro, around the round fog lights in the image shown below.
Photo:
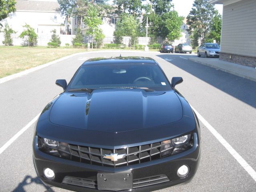
<svg viewBox="0 0 256 192"><path fill-rule="evenodd" d="M74 162L45 154L38 150L37 136L34 139L33 151L36 172L46 185L79 192L102 191L97 188L98 173L128 171L133 176L133 188L124 191L148 192L190 182L196 173L200 160L200 139L194 133L194 145L189 150L158 160L118 168ZM182 165L189 166L190 172L186 177L179 178L177 170ZM54 171L54 180L48 180L44 177L44 168L50 168ZM144 180L144 183L139 184L138 181L140 180Z"/></svg>

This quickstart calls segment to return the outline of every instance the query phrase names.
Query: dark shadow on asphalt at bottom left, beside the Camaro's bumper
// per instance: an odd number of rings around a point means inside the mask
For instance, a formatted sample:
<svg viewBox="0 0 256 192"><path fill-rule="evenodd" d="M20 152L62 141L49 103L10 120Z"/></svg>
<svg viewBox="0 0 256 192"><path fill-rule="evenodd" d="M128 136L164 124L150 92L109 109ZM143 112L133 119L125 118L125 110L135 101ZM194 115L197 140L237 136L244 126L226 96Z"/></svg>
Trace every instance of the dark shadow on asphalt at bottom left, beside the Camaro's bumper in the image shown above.
<svg viewBox="0 0 256 192"><path fill-rule="evenodd" d="M30 175L26 175L22 182L18 184L18 186L13 190L13 192L26 192L25 187L30 185L30 184L37 184L37 185L42 185L44 188L43 192L54 192L50 187L45 186L42 181L40 180L39 177L32 177ZM34 188L33 191L39 191L36 188Z"/></svg>

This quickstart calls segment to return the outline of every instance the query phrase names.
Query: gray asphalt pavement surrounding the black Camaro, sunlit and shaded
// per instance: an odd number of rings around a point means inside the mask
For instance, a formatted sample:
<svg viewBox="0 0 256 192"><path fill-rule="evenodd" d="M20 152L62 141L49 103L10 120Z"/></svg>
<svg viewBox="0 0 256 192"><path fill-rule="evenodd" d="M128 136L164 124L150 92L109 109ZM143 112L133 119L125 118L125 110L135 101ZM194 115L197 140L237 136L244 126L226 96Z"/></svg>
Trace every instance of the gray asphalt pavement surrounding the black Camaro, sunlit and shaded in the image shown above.
<svg viewBox="0 0 256 192"><path fill-rule="evenodd" d="M86 53L0 84L0 147L28 124L62 89L55 80L70 80L88 58L119 56L120 52ZM216 131L256 170L256 82L204 66L187 58L194 54L122 52L122 56L150 56L169 80L182 76L176 88ZM209 58L211 59L211 58ZM157 192L255 192L256 181L201 122L202 156L189 184ZM64 192L44 186L32 163L34 124L0 154L0 192Z"/></svg>

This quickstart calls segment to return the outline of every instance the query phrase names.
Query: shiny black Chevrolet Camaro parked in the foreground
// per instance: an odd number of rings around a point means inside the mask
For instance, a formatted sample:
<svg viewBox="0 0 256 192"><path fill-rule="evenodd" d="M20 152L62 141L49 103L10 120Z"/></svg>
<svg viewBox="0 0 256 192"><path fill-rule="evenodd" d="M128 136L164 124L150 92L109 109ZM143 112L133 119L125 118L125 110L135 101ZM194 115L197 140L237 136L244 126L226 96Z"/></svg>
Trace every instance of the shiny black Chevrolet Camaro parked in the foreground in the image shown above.
<svg viewBox="0 0 256 192"><path fill-rule="evenodd" d="M44 184L148 192L189 182L200 160L198 118L151 58L94 58L42 111L33 160Z"/></svg>

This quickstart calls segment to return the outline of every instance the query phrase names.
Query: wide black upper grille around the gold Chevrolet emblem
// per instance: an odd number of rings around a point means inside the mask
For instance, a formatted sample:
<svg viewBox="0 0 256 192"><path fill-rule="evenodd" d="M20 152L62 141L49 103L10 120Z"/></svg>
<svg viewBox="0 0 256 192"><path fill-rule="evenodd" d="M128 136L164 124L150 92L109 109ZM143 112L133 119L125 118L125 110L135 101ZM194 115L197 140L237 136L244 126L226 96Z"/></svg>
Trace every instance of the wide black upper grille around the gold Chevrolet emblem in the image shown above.
<svg viewBox="0 0 256 192"><path fill-rule="evenodd" d="M173 148L171 140L118 149L95 148L64 142L58 142L57 146L50 148L44 142L44 138L40 137L38 137L38 146L41 151L60 158L91 165L116 168L149 162L188 150L193 146L193 137L191 137L190 142L177 148ZM110 154L121 156L118 160L104 158L104 155Z"/></svg>

